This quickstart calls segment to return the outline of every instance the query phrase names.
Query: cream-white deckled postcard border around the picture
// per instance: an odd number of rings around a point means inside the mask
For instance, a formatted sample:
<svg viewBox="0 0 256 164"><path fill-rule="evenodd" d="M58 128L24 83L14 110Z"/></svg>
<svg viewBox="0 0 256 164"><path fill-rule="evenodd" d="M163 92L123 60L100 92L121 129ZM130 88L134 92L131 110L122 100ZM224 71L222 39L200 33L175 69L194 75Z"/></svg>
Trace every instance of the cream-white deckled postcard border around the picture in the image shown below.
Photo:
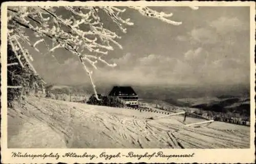
<svg viewBox="0 0 256 164"><path fill-rule="evenodd" d="M7 6L250 6L250 100L251 100L251 135L250 135L250 149L8 149L7 148ZM56 162L65 162L65 163L85 163L85 162L102 162L102 163L126 163L126 162L147 162L147 163L155 163L155 162L162 162L162 163L170 163L170 162L177 162L177 163L185 163L185 162L198 162L198 163L251 163L255 162L255 146L254 146L254 125L255 125L255 63L254 63L254 46L255 46L255 3L253 2L198 2L198 1L183 1L183 2L175 2L175 1L168 1L168 2L145 2L145 1L127 1L127 2L5 2L1 6L1 161L3 163L56 163ZM39 138L38 138L39 139ZM40 158L12 158L11 152L12 151L19 151L22 153L30 152L30 153L58 153L58 154L65 154L66 152L72 151L78 154L83 154L84 152L90 152L99 154L102 151L108 153L128 153L130 151L137 152L143 154L143 152L157 152L163 151L166 154L184 154L184 153L195 153L194 157L191 158L171 158L169 160L161 159L161 158L151 158L148 160L143 158L138 160L136 158L113 158L112 160L104 160L103 158L96 158L94 160L88 160L85 158L60 158L55 160L54 158L46 158L42 160Z"/></svg>

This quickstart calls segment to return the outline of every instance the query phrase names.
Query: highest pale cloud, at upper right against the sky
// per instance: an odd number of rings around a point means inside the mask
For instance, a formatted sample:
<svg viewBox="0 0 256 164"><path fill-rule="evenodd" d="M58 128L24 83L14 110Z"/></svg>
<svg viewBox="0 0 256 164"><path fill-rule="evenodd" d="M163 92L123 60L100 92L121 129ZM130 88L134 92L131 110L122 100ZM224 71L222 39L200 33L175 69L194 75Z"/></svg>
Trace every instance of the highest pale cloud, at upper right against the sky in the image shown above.
<svg viewBox="0 0 256 164"><path fill-rule="evenodd" d="M249 23L237 17L219 17L209 21L200 28L189 31L186 35L179 35L176 40L196 45L228 44L238 42L238 33L249 31Z"/></svg>

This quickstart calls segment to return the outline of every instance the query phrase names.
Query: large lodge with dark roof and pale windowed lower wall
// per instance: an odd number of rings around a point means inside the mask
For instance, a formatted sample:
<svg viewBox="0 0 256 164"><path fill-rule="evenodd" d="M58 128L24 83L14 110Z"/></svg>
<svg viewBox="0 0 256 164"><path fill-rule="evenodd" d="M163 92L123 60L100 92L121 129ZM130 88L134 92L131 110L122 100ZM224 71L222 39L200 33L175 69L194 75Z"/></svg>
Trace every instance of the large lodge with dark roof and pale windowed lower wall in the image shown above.
<svg viewBox="0 0 256 164"><path fill-rule="evenodd" d="M114 86L109 96L115 96L124 101L127 106L138 107L138 95L131 86Z"/></svg>

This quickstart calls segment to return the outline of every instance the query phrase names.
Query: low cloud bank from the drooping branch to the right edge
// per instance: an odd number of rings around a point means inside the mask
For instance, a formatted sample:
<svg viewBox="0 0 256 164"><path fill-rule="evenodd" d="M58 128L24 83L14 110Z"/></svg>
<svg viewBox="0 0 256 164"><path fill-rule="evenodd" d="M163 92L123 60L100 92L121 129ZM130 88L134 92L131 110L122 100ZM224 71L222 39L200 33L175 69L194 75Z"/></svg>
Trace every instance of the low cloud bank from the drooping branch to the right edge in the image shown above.
<svg viewBox="0 0 256 164"><path fill-rule="evenodd" d="M245 83L248 68L236 58L214 59L199 47L180 55L180 58L156 54L135 58L126 54L116 63L118 68L100 69L95 72L96 81L128 85L207 85Z"/></svg>

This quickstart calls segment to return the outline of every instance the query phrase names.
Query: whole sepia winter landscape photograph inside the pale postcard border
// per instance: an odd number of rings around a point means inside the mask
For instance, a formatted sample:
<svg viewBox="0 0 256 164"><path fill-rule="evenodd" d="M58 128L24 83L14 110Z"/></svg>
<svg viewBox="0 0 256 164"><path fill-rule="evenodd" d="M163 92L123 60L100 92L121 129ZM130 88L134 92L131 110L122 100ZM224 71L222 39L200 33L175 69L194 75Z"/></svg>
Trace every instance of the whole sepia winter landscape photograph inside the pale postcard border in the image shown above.
<svg viewBox="0 0 256 164"><path fill-rule="evenodd" d="M250 7L7 16L8 148L250 148Z"/></svg>

